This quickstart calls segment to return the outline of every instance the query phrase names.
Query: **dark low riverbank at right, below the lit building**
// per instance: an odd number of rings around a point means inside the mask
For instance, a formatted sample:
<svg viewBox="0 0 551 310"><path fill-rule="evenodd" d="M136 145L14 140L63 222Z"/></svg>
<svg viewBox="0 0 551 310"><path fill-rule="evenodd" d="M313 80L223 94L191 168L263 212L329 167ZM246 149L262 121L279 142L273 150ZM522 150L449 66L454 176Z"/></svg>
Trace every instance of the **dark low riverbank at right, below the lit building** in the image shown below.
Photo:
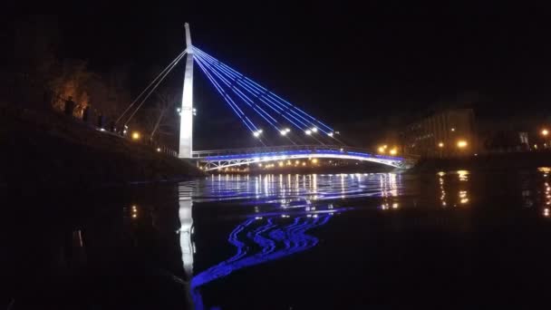
<svg viewBox="0 0 551 310"><path fill-rule="evenodd" d="M456 159L420 160L411 172L433 170L510 170L551 167L550 151L499 153Z"/></svg>

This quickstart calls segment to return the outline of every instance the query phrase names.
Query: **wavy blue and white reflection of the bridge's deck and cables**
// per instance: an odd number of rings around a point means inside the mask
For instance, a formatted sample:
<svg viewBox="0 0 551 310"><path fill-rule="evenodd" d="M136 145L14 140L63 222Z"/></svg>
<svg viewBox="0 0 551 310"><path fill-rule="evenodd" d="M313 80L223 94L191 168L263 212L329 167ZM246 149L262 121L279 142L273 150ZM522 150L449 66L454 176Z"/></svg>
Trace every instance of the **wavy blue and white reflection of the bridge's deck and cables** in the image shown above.
<svg viewBox="0 0 551 310"><path fill-rule="evenodd" d="M180 197L190 198L192 202L255 206L229 233L227 241L236 248L235 255L192 277L190 289L196 308L203 308L201 286L239 269L288 257L317 245L318 238L306 232L324 226L333 214L352 209L334 207L333 200L387 199L400 194L401 176L393 173L212 175L199 183L182 183Z"/></svg>

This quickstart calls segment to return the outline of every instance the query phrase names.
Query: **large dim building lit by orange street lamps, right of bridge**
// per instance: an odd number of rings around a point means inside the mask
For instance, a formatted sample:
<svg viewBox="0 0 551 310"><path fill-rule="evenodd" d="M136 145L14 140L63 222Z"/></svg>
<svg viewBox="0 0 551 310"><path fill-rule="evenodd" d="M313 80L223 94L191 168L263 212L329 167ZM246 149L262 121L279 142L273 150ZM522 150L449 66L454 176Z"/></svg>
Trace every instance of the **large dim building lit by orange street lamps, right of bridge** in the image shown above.
<svg viewBox="0 0 551 310"><path fill-rule="evenodd" d="M426 158L472 155L478 150L472 109L440 111L406 126L400 134L404 154Z"/></svg>

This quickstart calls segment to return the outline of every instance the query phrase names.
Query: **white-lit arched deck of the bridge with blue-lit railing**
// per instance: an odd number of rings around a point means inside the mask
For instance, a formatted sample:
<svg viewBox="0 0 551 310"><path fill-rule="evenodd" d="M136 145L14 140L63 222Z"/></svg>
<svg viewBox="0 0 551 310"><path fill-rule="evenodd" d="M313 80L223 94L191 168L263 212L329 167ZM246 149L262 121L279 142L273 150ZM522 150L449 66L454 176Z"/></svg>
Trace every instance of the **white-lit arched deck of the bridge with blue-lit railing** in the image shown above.
<svg viewBox="0 0 551 310"><path fill-rule="evenodd" d="M292 145L233 150L193 151L193 159L204 164L206 171L260 163L272 160L335 159L362 160L380 163L400 169L409 169L415 164L411 158L372 154L366 150L343 146Z"/></svg>

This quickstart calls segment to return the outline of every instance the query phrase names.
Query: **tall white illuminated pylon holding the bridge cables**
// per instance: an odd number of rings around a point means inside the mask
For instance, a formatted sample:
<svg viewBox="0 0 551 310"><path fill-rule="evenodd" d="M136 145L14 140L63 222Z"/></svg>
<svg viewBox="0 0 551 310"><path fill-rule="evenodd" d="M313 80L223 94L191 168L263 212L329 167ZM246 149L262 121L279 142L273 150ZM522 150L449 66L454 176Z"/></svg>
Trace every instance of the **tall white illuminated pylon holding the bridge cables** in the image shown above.
<svg viewBox="0 0 551 310"><path fill-rule="evenodd" d="M190 159L193 150L193 48L189 24L186 27L186 72L184 73L184 91L182 93L182 107L179 122L179 153L180 159Z"/></svg>

